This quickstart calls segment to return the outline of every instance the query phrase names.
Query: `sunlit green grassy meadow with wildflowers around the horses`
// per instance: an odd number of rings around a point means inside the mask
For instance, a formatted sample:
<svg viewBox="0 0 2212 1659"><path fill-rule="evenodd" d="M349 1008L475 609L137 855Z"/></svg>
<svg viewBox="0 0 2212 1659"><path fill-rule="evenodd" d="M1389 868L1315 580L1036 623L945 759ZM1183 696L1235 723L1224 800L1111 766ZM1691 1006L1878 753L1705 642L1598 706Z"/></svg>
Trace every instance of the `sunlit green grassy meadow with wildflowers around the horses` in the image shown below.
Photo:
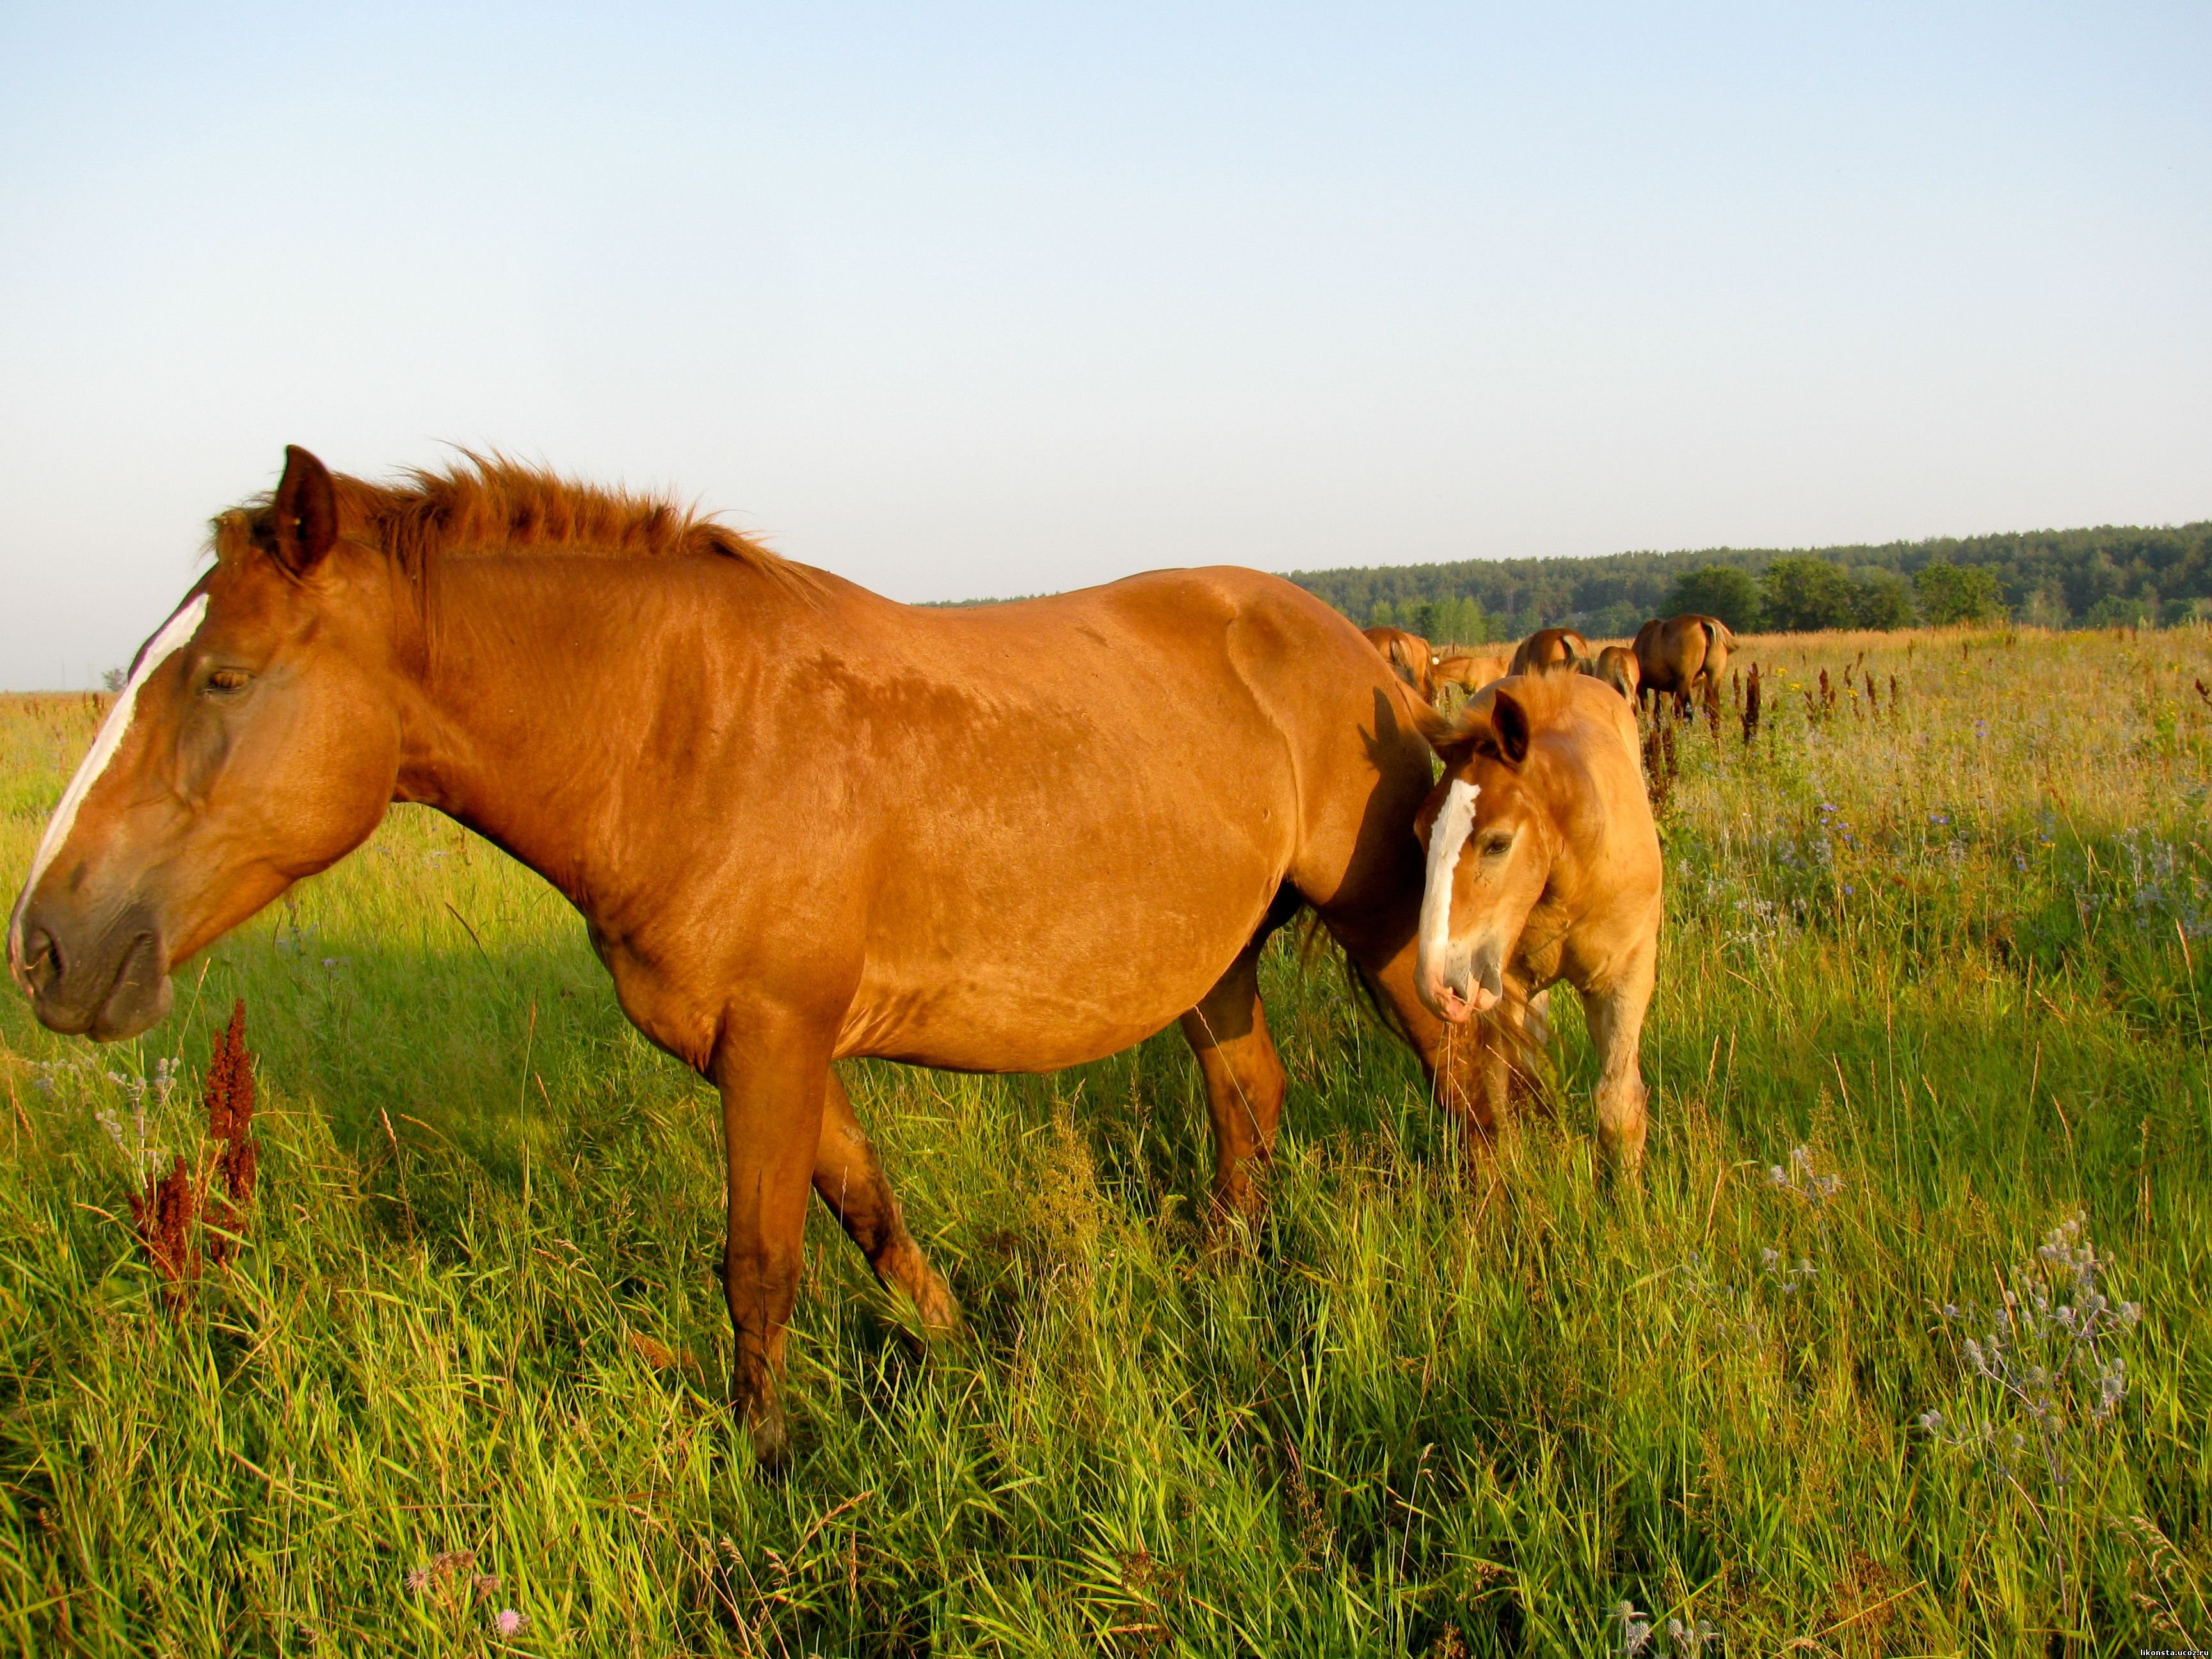
<svg viewBox="0 0 2212 1659"><path fill-rule="evenodd" d="M1756 739L1677 739L1639 1188L1573 995L1551 1106L1469 1166L1287 936L1245 1248L1172 1033L858 1064L969 1332L816 1212L774 1475L719 1405L717 1104L482 841L394 810L133 1044L0 995L0 1646L2212 1646L2212 635L1736 661ZM0 706L0 891L95 721ZM259 1190L173 1305L128 1194L197 1157L239 998Z"/></svg>

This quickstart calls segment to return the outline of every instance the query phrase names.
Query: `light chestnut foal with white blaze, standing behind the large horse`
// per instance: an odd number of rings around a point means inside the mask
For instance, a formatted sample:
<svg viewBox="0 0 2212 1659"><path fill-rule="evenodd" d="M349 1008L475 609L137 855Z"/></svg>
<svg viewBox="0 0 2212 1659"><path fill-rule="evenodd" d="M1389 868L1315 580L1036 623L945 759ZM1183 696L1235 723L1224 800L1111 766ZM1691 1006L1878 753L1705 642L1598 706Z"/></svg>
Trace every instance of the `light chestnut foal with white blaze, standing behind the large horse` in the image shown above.
<svg viewBox="0 0 2212 1659"><path fill-rule="evenodd" d="M1553 672L1500 679L1458 717L1420 723L1444 761L1418 818L1420 998L1451 1024L1480 1013L1515 1033L1540 1020L1531 998L1573 984L1599 1057L1597 1130L1632 1170L1661 918L1635 712L1597 679ZM1484 1121L1504 1110L1513 1046L1486 1044L1473 1106Z"/></svg>

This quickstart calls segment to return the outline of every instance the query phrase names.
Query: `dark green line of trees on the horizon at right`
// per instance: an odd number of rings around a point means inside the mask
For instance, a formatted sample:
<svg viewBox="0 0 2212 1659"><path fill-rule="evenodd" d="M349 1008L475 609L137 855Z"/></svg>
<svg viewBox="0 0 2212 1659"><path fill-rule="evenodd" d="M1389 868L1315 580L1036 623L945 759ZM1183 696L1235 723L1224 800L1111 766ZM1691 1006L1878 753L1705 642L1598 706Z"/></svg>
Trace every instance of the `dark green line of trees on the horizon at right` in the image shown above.
<svg viewBox="0 0 2212 1659"><path fill-rule="evenodd" d="M1703 549L1292 571L1360 626L1484 644L1537 628L1632 635L1701 611L1736 633L2013 619L2046 628L2212 619L2212 520L1931 538L1885 546Z"/></svg>

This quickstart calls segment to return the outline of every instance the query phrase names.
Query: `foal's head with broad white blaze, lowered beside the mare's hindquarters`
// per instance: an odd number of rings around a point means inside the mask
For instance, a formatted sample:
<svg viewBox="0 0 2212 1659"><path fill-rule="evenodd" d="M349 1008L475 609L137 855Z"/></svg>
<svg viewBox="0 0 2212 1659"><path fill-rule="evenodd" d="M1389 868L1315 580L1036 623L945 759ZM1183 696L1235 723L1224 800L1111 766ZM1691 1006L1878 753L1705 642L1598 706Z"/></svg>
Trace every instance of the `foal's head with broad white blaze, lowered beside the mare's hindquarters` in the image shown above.
<svg viewBox="0 0 2212 1659"><path fill-rule="evenodd" d="M1413 984L1433 1015L1460 1024L1504 995L1559 830L1528 776L1531 719L1513 690L1484 690L1458 719L1422 730L1444 776L1413 823L1429 854Z"/></svg>

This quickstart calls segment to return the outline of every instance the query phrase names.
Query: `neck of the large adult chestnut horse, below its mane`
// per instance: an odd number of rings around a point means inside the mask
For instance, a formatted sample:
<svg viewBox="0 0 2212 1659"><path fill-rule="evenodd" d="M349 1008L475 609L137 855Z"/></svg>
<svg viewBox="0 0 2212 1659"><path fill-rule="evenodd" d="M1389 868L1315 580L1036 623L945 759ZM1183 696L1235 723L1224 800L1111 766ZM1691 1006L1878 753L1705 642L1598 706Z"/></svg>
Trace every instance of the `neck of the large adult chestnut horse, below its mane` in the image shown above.
<svg viewBox="0 0 2212 1659"><path fill-rule="evenodd" d="M498 843L586 909L619 885L615 801L650 799L690 591L617 560L471 557L438 573L398 799ZM732 641L734 644L734 641ZM681 684L681 681L679 681Z"/></svg>

